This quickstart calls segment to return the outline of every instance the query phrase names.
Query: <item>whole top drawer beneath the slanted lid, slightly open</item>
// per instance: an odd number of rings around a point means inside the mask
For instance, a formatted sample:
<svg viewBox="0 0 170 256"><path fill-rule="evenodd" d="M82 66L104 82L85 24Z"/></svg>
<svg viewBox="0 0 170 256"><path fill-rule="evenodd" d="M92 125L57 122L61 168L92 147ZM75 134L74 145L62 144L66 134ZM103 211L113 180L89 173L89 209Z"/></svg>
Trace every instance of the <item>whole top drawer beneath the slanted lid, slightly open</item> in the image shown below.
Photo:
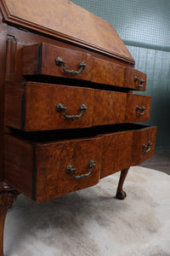
<svg viewBox="0 0 170 256"><path fill-rule="evenodd" d="M145 90L146 75L111 61L96 58L81 50L52 44L32 44L23 47L23 75L47 75L80 79L98 84Z"/></svg>

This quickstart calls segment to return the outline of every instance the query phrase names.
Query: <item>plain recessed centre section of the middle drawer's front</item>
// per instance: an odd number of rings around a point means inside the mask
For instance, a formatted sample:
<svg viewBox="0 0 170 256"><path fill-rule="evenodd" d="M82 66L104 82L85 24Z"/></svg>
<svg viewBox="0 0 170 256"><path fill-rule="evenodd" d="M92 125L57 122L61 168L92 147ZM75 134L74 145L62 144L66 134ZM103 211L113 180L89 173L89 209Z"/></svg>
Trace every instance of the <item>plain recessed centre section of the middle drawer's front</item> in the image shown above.
<svg viewBox="0 0 170 256"><path fill-rule="evenodd" d="M93 125L123 123L125 120L127 94L95 90Z"/></svg>

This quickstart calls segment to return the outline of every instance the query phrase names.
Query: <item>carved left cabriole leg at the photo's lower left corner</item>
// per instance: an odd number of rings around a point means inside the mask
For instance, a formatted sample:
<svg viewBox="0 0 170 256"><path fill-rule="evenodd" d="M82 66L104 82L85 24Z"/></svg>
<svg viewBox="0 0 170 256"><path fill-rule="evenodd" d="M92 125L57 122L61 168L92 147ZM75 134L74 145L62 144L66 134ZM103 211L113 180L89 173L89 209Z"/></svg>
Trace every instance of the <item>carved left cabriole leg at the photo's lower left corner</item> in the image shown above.
<svg viewBox="0 0 170 256"><path fill-rule="evenodd" d="M8 209L20 193L10 189L6 183L0 183L0 256L3 256L3 230Z"/></svg>

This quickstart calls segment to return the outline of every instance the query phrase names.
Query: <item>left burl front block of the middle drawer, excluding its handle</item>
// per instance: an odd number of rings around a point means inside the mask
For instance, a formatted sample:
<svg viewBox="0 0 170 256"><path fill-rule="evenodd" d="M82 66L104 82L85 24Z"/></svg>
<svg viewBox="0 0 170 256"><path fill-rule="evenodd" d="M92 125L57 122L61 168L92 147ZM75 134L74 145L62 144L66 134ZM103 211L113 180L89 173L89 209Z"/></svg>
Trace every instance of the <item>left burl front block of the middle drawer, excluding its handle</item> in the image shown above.
<svg viewBox="0 0 170 256"><path fill-rule="evenodd" d="M80 106L87 110L80 119L65 119L56 111L58 103L67 108L67 115L80 114ZM26 131L89 127L92 125L94 90L55 84L26 84Z"/></svg>

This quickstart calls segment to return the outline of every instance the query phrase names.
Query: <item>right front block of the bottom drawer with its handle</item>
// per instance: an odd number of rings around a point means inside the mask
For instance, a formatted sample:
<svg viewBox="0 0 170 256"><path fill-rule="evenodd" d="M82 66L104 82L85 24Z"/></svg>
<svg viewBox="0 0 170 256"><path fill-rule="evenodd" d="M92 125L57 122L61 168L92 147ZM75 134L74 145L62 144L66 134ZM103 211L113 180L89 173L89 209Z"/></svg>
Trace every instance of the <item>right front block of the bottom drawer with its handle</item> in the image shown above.
<svg viewBox="0 0 170 256"><path fill-rule="evenodd" d="M156 127L134 131L131 166L138 166L154 155L156 145Z"/></svg>

